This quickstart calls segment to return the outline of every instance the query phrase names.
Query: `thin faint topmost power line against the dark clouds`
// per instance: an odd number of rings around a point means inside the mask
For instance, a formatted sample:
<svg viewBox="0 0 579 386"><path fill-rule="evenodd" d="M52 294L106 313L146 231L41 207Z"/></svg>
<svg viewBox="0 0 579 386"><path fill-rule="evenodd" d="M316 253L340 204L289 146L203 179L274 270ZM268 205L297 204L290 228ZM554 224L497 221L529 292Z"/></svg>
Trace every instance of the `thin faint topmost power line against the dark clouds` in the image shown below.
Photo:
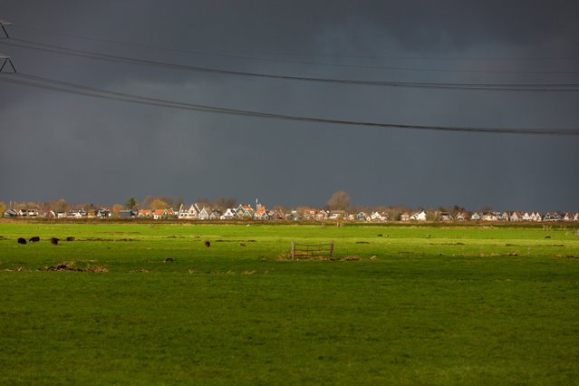
<svg viewBox="0 0 579 386"><path fill-rule="evenodd" d="M374 69L374 70L393 70L393 71L404 71L404 72L458 72L458 73L511 73L511 74L577 74L579 71L530 71L530 70L460 70L460 69L440 69L440 68L422 68L422 67L400 67L400 66L383 66L383 65L368 65L368 64L345 64L345 63L320 63L320 62L308 62L308 61L295 61L289 59L274 59L274 58L258 58L255 56L246 56L246 55L239 55L239 54L232 54L232 53L215 53L215 52L206 52L206 51L198 51L198 50L190 50L185 48L178 48L178 47L167 47L162 45L154 45L154 44L144 44L144 43L129 43L129 42L122 42L118 40L111 40L111 39L101 39L101 38L94 38L82 35L75 35L75 34L62 34L56 32L49 32L46 30L41 30L34 27L27 27L23 25L16 24L18 27L29 29L32 31L37 31L42 34L55 34L61 35L66 37L71 37L74 39L82 39L92 42L101 42L101 43L113 43L113 44L120 44L130 47L139 47L139 48L147 48L147 49L155 49L155 50L162 50L162 51L169 51L174 53L194 53L200 54L204 56L215 56L215 57L223 57L223 58L232 58L232 59L244 59L244 60L251 60L251 61L258 61L258 62L272 62L272 63L293 63L293 64L306 64L306 65L317 65L317 66L332 66L332 67L344 67L344 68L361 68L361 69ZM339 57L339 56L338 56Z"/></svg>

